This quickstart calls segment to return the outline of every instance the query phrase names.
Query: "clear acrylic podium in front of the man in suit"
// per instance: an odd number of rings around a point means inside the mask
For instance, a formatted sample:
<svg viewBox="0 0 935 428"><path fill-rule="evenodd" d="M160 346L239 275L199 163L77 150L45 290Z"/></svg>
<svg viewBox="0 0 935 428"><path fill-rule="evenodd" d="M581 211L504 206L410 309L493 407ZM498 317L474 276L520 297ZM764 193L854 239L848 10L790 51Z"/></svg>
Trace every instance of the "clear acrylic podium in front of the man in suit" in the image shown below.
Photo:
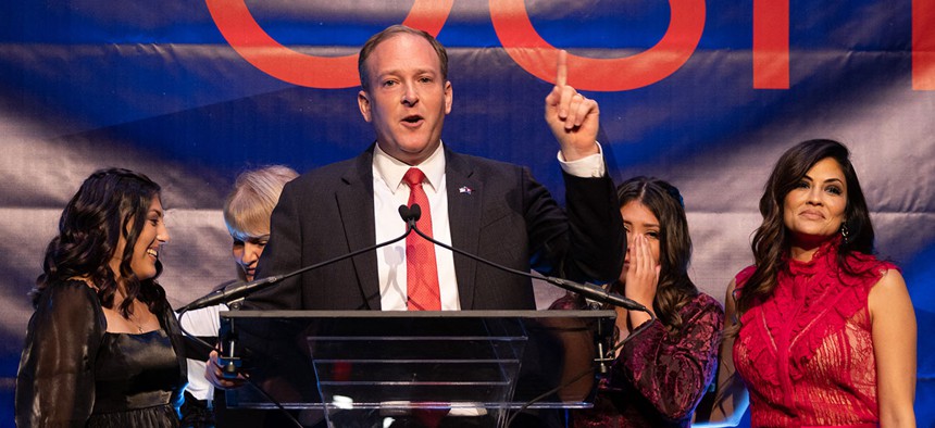
<svg viewBox="0 0 935 428"><path fill-rule="evenodd" d="M520 408L591 406L613 311L235 311L221 322L254 383L329 426L440 411L502 426ZM274 410L254 388L228 407ZM373 421L372 424L366 423Z"/></svg>

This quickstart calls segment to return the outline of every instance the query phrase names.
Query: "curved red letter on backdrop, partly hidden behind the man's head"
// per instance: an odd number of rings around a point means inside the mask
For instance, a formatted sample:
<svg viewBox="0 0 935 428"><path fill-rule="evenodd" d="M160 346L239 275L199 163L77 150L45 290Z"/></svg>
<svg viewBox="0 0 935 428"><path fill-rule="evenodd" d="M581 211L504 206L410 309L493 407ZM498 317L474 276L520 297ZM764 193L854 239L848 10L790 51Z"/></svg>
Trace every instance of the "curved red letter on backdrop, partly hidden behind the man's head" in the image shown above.
<svg viewBox="0 0 935 428"><path fill-rule="evenodd" d="M415 0L403 25L437 36L454 0ZM205 0L211 17L230 47L247 62L277 79L312 88L337 89L360 85L357 54L314 56L296 52L260 27L245 0Z"/></svg>

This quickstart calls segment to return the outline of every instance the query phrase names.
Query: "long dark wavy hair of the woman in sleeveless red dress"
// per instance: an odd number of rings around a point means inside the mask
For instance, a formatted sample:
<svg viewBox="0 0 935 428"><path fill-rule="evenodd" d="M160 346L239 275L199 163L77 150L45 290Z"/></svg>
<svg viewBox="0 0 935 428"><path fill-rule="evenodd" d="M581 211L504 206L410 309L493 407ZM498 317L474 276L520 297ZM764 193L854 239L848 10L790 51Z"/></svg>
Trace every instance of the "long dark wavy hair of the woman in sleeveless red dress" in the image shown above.
<svg viewBox="0 0 935 428"><path fill-rule="evenodd" d="M763 197L760 198L760 214L763 223L753 232L751 248L757 266L756 272L744 285L743 292L737 295L737 319L744 312L757 302L772 294L776 287L776 276L784 268L784 259L788 256L791 247L791 236L783 221L784 201L816 163L833 159L840 166L847 184L847 207L845 209L844 227L848 231L847 239L842 239L838 247L837 264L845 272L850 272L846 263L851 252L873 253L873 225L870 223L870 211L857 173L850 163L850 152L840 142L826 139L802 141L783 153L776 162L773 173L766 181Z"/></svg>

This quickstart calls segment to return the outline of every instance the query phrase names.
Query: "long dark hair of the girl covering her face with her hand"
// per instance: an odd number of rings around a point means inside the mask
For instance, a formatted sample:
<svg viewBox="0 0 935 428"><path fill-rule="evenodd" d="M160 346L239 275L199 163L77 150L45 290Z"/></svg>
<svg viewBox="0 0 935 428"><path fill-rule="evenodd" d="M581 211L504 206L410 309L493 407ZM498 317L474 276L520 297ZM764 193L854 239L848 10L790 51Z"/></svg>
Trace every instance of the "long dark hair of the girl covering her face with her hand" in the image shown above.
<svg viewBox="0 0 935 428"><path fill-rule="evenodd" d="M640 176L621 184L616 196L621 207L639 202L659 219L659 286L652 309L662 325L676 333L682 328L678 310L698 294L698 288L688 278L691 237L682 194L669 182Z"/></svg>

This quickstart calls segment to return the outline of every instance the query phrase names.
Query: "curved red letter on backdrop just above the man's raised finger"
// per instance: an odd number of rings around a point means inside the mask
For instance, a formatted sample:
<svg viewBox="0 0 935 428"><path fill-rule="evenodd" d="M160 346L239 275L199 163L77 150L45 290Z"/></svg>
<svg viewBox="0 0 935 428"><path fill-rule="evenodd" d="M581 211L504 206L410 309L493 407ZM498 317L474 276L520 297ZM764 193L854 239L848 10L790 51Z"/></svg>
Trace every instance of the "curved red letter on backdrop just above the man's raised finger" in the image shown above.
<svg viewBox="0 0 935 428"><path fill-rule="evenodd" d="M558 50L539 37L523 0L490 0L490 21L510 58L532 75L553 81ZM619 91L652 85L675 73L695 52L705 29L705 0L670 0L669 29L645 52L620 59L569 54L569 85Z"/></svg>

